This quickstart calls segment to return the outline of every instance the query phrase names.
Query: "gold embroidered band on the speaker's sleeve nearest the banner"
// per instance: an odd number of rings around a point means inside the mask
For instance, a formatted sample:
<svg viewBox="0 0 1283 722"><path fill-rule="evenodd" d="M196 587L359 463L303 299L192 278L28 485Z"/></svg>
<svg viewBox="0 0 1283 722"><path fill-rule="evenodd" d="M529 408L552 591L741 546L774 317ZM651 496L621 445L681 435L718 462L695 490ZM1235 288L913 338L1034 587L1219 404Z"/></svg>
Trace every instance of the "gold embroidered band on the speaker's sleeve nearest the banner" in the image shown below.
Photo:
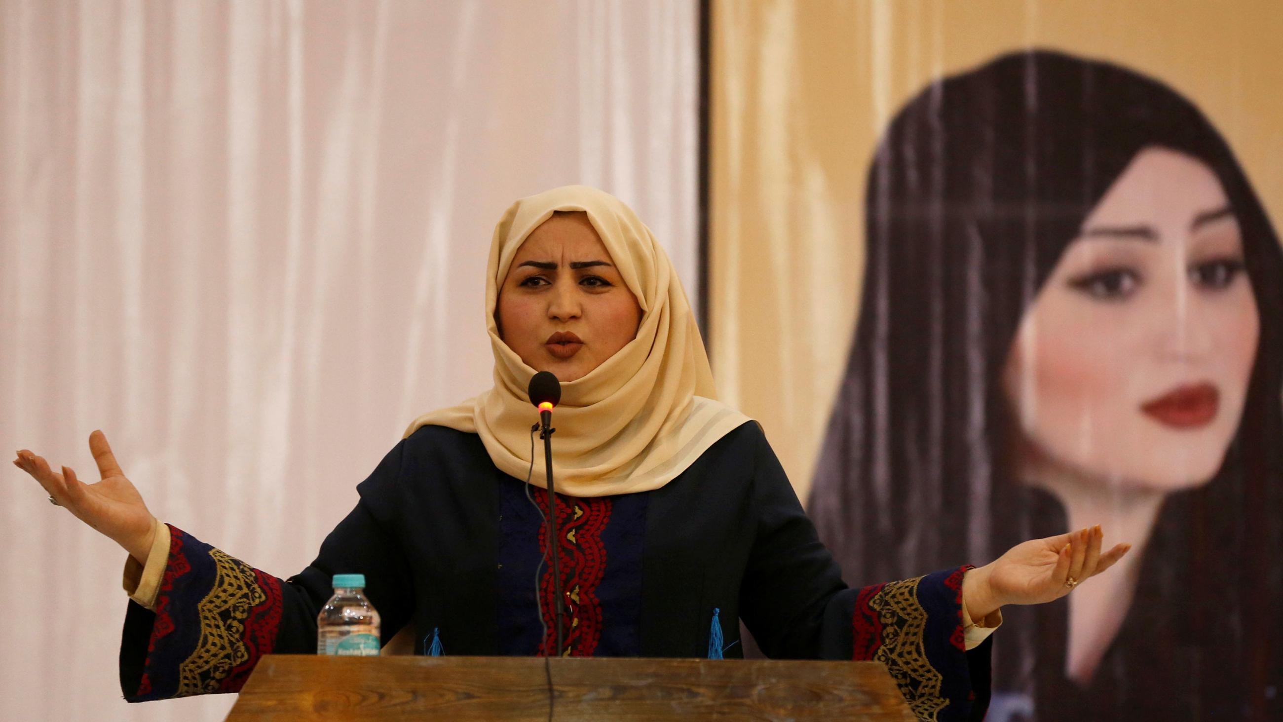
<svg viewBox="0 0 1283 722"><path fill-rule="evenodd" d="M940 698L944 677L926 660L922 635L926 610L917 601L917 582L922 577L888 582L869 605L883 625L883 644L874 654L890 671L899 693L919 719L935 722L948 700Z"/></svg>

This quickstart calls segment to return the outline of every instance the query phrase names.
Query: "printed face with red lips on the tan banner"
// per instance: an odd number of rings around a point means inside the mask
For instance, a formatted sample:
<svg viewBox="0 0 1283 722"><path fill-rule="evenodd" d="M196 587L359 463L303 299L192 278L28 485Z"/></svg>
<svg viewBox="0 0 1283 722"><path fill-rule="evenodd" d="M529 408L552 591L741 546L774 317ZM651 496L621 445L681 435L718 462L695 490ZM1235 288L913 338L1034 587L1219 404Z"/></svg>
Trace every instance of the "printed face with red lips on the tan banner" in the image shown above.
<svg viewBox="0 0 1283 722"><path fill-rule="evenodd" d="M1171 491L1220 468L1260 318L1225 191L1160 147L1112 183L1025 312L1003 383L1024 476Z"/></svg>

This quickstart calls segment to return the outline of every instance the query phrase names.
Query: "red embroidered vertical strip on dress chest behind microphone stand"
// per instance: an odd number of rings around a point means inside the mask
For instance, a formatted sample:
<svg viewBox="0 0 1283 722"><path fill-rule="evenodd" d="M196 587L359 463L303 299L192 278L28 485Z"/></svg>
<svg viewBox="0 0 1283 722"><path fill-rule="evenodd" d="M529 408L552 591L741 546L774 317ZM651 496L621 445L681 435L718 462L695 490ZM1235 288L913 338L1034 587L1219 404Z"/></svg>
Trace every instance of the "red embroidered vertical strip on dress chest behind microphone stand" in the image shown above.
<svg viewBox="0 0 1283 722"><path fill-rule="evenodd" d="M536 489L535 501L548 513L548 491ZM576 499L557 498L558 564L562 575L562 596L566 599L565 623L562 630L563 654L567 657L591 657L602 641L602 603L597 589L606 576L606 544L602 531L611 521L612 503L608 498ZM539 527L539 553L548 557L548 527ZM544 623L548 636L539 645L540 657L556 646L557 619L553 614L553 573L544 564L539 594L543 603Z"/></svg>

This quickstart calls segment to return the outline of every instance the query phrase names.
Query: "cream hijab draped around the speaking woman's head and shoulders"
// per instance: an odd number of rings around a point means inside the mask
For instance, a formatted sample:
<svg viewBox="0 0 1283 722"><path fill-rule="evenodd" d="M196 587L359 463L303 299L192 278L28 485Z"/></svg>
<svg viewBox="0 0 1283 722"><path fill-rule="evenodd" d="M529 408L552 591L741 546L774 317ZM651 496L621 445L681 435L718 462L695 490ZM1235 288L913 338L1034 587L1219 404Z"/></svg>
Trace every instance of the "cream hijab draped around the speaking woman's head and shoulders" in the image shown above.
<svg viewBox="0 0 1283 722"><path fill-rule="evenodd" d="M715 399L712 371L672 262L633 209L586 186L523 197L494 228L486 267L486 328L494 387L458 407L426 413L405 430L445 426L481 436L490 460L517 478L530 472L530 427L539 413L526 389L535 369L499 339L494 312L517 248L556 210L582 210L642 305L633 341L582 378L562 383L553 412L557 491L608 496L659 489L731 430L749 421ZM547 489L543 444L530 482Z"/></svg>

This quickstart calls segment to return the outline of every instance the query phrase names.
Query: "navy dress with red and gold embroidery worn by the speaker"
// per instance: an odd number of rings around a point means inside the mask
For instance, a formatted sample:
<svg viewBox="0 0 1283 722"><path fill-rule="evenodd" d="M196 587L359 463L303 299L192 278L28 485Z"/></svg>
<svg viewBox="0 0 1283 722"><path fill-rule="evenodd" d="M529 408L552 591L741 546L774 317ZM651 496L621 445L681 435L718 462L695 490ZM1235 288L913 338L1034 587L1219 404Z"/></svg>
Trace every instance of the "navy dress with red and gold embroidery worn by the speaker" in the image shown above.
<svg viewBox="0 0 1283 722"><path fill-rule="evenodd" d="M289 580L171 526L155 612L126 614L126 699L237 691L262 655L314 653L336 573L366 576L384 642L413 625L418 654L552 648L548 495L500 472L479 436L422 427L357 490ZM742 657L743 619L767 657L876 659L920 718L983 718L992 642L964 648L967 567L848 589L757 423L661 489L558 495L557 513L567 654Z"/></svg>

